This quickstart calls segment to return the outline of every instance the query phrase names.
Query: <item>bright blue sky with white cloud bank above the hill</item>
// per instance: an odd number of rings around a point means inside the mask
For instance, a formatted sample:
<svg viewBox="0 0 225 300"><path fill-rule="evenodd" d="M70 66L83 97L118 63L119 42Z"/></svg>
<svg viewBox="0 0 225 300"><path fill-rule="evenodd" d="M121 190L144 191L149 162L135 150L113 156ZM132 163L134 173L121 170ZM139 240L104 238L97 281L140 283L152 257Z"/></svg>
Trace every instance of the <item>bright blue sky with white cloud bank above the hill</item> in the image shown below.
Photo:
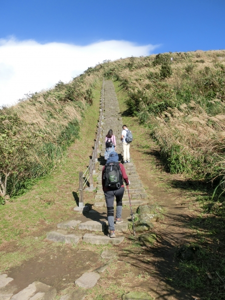
<svg viewBox="0 0 225 300"><path fill-rule="evenodd" d="M0 89L6 89L0 93L0 104L16 100L22 93L50 87L55 80L68 81L104 59L166 51L224 49L224 15L224 0L2 0ZM91 44L95 45L94 50ZM25 53L23 56L18 55L18 46ZM89 59L79 56L84 49ZM54 63L45 51L57 54L54 57L59 70L57 75L56 71L50 72ZM28 57L30 52L33 55ZM70 62L60 64L64 56L69 57ZM45 80L37 70L43 60L41 68L47 74ZM72 64L70 68L69 64ZM63 65L67 67L63 69ZM31 72L33 81L38 84L28 82L21 87L22 81L29 81L27 72ZM14 81L10 81L13 78ZM19 91L9 96L9 86L18 78L21 83L15 89Z"/></svg>

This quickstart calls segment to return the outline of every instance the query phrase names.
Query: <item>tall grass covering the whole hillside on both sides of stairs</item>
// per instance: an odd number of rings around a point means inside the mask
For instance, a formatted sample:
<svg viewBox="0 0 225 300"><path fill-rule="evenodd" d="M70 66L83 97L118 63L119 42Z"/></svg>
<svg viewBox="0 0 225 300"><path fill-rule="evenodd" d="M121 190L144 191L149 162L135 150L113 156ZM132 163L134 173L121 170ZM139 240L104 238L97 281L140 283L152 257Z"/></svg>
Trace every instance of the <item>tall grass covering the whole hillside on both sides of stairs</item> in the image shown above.
<svg viewBox="0 0 225 300"><path fill-rule="evenodd" d="M0 110L5 194L18 194L60 162L78 135L82 110L91 104L91 87L102 76L119 81L128 113L150 129L168 171L223 185L225 50L198 50L105 60L68 84L58 82Z"/></svg>

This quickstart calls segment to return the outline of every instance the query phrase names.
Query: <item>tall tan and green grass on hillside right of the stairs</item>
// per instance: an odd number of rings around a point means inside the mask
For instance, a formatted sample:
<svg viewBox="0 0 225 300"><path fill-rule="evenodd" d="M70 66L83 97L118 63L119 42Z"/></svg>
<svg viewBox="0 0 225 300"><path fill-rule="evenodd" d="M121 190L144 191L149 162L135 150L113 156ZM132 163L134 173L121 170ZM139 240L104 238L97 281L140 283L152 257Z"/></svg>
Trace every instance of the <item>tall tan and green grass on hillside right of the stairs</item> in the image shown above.
<svg viewBox="0 0 225 300"><path fill-rule="evenodd" d="M129 57L105 63L104 74L121 82L130 112L151 129L170 172L223 175L224 50Z"/></svg>

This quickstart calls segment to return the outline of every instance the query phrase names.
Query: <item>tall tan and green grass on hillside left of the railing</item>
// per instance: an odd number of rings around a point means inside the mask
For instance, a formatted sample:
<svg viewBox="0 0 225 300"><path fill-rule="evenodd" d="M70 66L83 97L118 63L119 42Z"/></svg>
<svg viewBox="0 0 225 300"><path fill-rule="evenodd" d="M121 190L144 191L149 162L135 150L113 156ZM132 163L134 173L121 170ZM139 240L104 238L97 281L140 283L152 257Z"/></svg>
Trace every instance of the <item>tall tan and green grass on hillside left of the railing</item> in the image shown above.
<svg viewBox="0 0 225 300"><path fill-rule="evenodd" d="M92 104L97 75L28 95L0 109L0 201L21 194L62 160L79 135L83 111Z"/></svg>

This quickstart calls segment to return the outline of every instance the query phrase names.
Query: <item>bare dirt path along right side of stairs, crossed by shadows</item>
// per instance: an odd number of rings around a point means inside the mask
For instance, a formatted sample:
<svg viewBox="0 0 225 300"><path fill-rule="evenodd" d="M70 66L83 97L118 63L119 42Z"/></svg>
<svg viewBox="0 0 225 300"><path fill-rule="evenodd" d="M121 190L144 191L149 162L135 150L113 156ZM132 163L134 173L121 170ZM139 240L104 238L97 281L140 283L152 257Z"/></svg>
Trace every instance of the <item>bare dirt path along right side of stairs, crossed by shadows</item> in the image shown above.
<svg viewBox="0 0 225 300"><path fill-rule="evenodd" d="M152 150L155 145L152 142ZM187 228L187 222L191 219L191 213L180 197L179 191L165 191L158 184L163 175L167 174L156 171L155 174L144 170L146 164L152 164L153 155L144 158L141 149L132 149L132 157L135 161L137 172L144 183L149 188L152 201L161 205L165 211L163 218L155 225L154 231L157 232L159 239L155 248L151 250L151 262L145 264L146 271L154 268L155 274L151 277L150 292L157 299L198 299L198 292L179 290L173 288L169 283L169 278L176 272L178 259L174 256L176 247L184 243L194 242L192 231ZM177 177L177 176L176 176ZM166 180L166 178L164 178ZM141 261L141 260L140 260Z"/></svg>

